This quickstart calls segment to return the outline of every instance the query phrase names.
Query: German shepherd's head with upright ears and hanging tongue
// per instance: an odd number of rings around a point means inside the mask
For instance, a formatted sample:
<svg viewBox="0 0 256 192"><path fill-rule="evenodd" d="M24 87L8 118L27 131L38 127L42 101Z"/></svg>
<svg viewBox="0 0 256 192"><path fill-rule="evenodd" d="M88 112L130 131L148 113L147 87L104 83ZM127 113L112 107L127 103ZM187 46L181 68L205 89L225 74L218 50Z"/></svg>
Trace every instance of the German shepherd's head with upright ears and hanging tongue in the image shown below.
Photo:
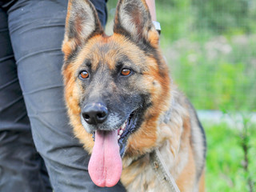
<svg viewBox="0 0 256 192"><path fill-rule="evenodd" d="M66 105L74 133L92 152L89 173L98 186L118 182L121 157L155 146L170 98L158 38L144 0L118 2L112 36L104 34L90 1L69 2L62 46Z"/></svg>

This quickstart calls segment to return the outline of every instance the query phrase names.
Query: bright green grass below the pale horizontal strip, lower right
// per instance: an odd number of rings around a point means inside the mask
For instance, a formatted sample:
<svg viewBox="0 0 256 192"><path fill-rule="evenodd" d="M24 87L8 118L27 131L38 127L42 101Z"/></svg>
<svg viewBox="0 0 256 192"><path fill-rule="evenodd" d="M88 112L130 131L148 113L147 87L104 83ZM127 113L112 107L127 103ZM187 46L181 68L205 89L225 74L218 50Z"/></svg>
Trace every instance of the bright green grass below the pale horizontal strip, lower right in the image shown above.
<svg viewBox="0 0 256 192"><path fill-rule="evenodd" d="M244 150L242 149L241 130L225 123L205 124L207 135L206 189L208 192L241 192L250 190L248 179L256 182L256 125L250 125L248 146L248 171L244 170Z"/></svg>

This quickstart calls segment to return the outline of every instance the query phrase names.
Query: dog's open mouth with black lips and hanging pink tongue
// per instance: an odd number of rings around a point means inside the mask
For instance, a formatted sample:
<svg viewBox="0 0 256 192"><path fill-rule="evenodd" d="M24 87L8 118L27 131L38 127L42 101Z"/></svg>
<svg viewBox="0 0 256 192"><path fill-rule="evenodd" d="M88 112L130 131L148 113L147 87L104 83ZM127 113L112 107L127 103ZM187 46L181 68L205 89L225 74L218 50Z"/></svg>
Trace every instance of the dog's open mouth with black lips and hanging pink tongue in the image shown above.
<svg viewBox="0 0 256 192"><path fill-rule="evenodd" d="M135 130L138 113L133 112L118 130L96 130L88 164L90 178L97 186L114 186L122 174L122 157L128 136Z"/></svg>

